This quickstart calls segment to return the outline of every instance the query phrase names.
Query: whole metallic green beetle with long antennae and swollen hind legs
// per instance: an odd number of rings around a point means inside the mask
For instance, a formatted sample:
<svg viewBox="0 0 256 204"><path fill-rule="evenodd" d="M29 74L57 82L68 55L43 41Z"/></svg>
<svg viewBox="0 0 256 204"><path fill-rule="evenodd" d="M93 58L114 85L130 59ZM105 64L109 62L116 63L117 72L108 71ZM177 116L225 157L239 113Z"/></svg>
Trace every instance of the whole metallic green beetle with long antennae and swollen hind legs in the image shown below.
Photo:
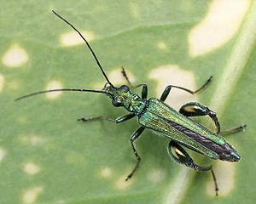
<svg viewBox="0 0 256 204"><path fill-rule="evenodd" d="M79 36L83 38L87 47L90 49L90 53L93 55L96 60L96 64L99 66L102 71L102 75L107 80L106 85L102 90L90 90L90 89L79 89L79 88L61 88L61 89L51 89L46 91L40 91L32 94L22 96L16 100L24 99L36 94L44 94L49 92L57 91L74 91L74 92L92 92L92 93L101 93L106 94L111 100L112 104L115 107L122 106L129 113L125 116L120 116L117 119L108 118L108 116L96 116L96 117L83 117L78 119L82 122L88 122L91 120L108 120L109 122L125 122L132 117L137 116L137 121L140 125L137 131L131 135L131 147L137 157L137 164L127 176L125 180L128 180L132 175L137 171L137 167L141 161L141 156L137 153L137 149L134 145L136 139L143 133L144 129L148 128L153 133L156 133L161 136L165 136L170 139L170 142L167 146L167 151L172 160L177 161L180 164L183 164L187 167L191 167L196 171L208 171L211 170L212 177L215 184L216 195L218 195L218 185L216 182L215 175L212 171L212 166L201 167L193 161L189 154L183 149L182 146L195 150L202 155L208 156L214 160L222 161L239 161L240 156L238 152L218 133L220 133L220 126L218 122L218 117L216 113L208 109L206 106L201 105L197 102L190 102L186 105L183 105L179 111L175 111L169 105L165 104L165 100L170 93L172 88L179 88L183 91L189 92L190 94L195 94L205 88L207 84L211 81L210 77L207 82L205 82L201 88L196 91L191 91L187 88L177 87L169 85L164 90L163 94L160 96L160 99L147 99L148 96L148 86L147 84L138 84L137 86L132 86L129 78L125 73L123 68L123 75L127 82L130 84L131 88L142 87L142 95L139 96L131 91L131 89L122 85L120 87L115 87L108 80L108 77L102 69L102 65L99 60L96 58L96 54L90 48L90 44L86 41L83 35L67 20L61 17L59 14L56 14L61 20L64 20L69 26L71 26L75 31L78 32ZM216 132L212 132L207 127L202 126L200 123L191 120L190 116L210 116L212 121L215 123ZM243 129L245 125L236 127L230 131L225 131L223 133L233 133Z"/></svg>

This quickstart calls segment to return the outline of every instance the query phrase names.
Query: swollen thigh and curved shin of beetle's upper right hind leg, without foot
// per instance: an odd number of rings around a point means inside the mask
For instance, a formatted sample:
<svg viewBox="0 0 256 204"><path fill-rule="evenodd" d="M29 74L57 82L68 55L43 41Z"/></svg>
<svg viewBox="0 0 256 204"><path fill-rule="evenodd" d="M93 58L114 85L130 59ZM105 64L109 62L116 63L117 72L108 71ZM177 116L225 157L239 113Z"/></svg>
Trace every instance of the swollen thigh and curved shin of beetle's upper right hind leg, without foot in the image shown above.
<svg viewBox="0 0 256 204"><path fill-rule="evenodd" d="M183 105L180 108L179 112L184 116L210 116L212 118L212 121L215 123L216 133L219 133L220 131L220 126L216 113L211 111L204 105L201 105L197 102L190 102Z"/></svg>

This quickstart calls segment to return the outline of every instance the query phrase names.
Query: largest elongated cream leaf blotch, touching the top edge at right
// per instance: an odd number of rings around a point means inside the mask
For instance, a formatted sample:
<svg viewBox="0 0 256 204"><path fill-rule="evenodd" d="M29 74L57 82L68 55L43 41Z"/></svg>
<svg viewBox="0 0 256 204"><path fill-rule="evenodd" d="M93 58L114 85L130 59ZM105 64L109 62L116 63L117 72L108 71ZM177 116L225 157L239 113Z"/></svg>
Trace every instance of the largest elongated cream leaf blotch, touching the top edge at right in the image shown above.
<svg viewBox="0 0 256 204"><path fill-rule="evenodd" d="M207 54L228 42L238 31L249 5L249 0L212 1L206 18L189 33L189 54Z"/></svg>

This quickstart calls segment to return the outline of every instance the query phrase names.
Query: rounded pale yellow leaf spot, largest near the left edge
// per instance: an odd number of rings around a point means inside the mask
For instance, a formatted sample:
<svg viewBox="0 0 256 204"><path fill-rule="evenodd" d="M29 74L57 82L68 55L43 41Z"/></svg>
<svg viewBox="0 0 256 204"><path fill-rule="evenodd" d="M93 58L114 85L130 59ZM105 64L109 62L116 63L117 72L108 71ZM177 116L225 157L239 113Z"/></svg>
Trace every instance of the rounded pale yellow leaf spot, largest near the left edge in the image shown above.
<svg viewBox="0 0 256 204"><path fill-rule="evenodd" d="M11 46L5 54L3 54L2 62L3 65L8 67L19 67L24 65L28 60L26 50L21 48L20 45L15 44Z"/></svg>

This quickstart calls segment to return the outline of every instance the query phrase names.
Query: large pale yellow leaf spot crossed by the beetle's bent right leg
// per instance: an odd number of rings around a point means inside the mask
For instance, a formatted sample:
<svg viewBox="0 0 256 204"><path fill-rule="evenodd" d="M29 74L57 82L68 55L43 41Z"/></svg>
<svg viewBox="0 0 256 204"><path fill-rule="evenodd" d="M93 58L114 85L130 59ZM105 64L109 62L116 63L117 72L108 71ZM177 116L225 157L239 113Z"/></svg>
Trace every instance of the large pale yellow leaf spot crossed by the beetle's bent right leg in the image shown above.
<svg viewBox="0 0 256 204"><path fill-rule="evenodd" d="M157 81L156 95L160 98L168 85L176 85L190 90L195 90L195 77L191 71L183 71L177 65L160 66L149 73L149 78ZM207 79L206 79L207 80ZM196 95L189 94L181 89L172 88L166 99L166 104L172 105L173 108L179 108L189 101L196 101Z"/></svg>

